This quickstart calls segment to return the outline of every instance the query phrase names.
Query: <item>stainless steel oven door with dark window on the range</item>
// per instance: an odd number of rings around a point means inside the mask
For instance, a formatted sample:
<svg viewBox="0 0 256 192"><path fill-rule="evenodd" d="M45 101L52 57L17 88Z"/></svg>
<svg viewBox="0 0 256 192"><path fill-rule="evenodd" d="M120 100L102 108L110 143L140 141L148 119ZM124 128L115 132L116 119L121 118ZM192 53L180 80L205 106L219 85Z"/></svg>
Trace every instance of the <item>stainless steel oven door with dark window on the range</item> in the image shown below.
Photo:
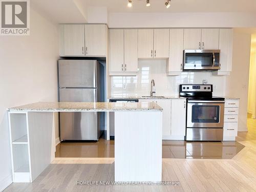
<svg viewBox="0 0 256 192"><path fill-rule="evenodd" d="M187 127L223 128L225 101L188 100Z"/></svg>

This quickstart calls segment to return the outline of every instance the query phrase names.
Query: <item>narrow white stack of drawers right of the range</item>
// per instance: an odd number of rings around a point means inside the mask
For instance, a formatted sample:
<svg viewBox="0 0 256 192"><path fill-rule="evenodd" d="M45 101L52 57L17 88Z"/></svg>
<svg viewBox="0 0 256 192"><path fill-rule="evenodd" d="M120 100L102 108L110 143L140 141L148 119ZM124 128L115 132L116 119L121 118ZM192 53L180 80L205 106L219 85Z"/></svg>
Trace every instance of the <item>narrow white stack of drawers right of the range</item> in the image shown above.
<svg viewBox="0 0 256 192"><path fill-rule="evenodd" d="M239 99L226 99L224 109L223 141L235 141L238 136Z"/></svg>

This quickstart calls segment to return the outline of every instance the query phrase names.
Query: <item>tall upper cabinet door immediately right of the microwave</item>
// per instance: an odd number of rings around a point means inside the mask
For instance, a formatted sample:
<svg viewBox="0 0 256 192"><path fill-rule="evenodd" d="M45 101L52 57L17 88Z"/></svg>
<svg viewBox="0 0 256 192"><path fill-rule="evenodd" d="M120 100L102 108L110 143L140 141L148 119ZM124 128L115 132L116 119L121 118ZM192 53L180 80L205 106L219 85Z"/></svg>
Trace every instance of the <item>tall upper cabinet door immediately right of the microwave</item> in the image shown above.
<svg viewBox="0 0 256 192"><path fill-rule="evenodd" d="M220 65L221 69L218 74L229 74L232 70L232 51L233 51L233 30L232 29L220 29L219 39Z"/></svg>

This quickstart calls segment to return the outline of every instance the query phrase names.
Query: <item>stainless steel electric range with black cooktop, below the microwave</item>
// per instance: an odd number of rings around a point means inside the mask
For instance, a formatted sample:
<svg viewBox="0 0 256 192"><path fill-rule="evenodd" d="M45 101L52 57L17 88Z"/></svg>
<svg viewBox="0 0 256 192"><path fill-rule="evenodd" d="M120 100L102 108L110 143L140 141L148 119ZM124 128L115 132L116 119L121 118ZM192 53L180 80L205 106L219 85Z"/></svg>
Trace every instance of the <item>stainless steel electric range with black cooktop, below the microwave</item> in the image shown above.
<svg viewBox="0 0 256 192"><path fill-rule="evenodd" d="M225 98L212 96L212 84L181 84L187 98L186 140L222 141Z"/></svg>

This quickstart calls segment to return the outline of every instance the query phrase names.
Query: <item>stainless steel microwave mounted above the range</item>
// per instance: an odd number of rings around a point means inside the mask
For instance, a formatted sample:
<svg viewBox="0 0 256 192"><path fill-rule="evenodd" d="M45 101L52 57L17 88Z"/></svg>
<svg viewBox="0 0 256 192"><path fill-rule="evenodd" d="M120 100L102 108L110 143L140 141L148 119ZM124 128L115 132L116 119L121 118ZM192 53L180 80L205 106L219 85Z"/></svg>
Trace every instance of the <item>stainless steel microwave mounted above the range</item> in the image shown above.
<svg viewBox="0 0 256 192"><path fill-rule="evenodd" d="M220 50L184 50L183 71L219 70Z"/></svg>

